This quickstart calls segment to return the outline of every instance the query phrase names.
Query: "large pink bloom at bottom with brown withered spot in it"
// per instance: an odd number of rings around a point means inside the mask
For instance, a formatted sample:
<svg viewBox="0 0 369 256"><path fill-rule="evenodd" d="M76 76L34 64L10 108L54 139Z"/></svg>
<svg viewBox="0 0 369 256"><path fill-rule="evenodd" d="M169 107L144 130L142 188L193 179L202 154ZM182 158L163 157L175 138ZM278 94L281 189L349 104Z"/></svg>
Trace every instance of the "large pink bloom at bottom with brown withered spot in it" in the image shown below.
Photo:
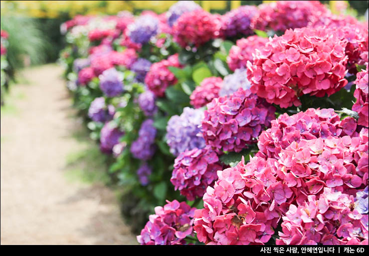
<svg viewBox="0 0 369 256"><path fill-rule="evenodd" d="M244 159L235 167L218 171L218 180L207 187L204 208L195 210L193 230L206 245L263 245L274 235L280 220L279 203L293 192L275 182L274 159Z"/></svg>

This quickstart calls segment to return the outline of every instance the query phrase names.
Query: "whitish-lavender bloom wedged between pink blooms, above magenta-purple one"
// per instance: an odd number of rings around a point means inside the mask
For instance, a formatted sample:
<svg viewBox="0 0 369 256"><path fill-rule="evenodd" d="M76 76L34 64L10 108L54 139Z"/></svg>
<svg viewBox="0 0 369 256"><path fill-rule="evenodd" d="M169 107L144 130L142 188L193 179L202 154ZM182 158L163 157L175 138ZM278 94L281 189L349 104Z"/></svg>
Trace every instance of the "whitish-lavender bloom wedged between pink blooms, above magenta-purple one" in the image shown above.
<svg viewBox="0 0 369 256"><path fill-rule="evenodd" d="M234 70L233 74L227 75L223 79L222 87L219 90L219 96L231 95L242 88L250 89L251 83L247 80L246 69L239 68Z"/></svg>

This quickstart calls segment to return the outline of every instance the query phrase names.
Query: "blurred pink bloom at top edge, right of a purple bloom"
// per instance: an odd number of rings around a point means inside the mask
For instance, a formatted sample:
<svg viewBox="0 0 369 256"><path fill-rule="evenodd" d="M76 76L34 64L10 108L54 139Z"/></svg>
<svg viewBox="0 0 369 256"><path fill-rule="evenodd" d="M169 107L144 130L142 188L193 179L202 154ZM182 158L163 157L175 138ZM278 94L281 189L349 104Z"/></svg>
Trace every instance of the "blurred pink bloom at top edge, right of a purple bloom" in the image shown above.
<svg viewBox="0 0 369 256"><path fill-rule="evenodd" d="M253 17L251 27L284 32L289 28L305 27L327 12L327 8L319 1L275 1L259 5L259 12Z"/></svg>

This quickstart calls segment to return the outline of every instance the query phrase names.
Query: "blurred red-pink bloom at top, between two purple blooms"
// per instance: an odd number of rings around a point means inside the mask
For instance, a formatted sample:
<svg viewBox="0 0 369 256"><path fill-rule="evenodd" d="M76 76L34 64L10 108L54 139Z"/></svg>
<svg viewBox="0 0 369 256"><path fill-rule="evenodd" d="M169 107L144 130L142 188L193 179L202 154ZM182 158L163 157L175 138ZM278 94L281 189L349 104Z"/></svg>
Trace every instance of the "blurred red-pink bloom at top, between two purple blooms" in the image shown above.
<svg viewBox="0 0 369 256"><path fill-rule="evenodd" d="M203 9L183 13L173 25L173 38L182 47L195 46L219 36L220 20Z"/></svg>

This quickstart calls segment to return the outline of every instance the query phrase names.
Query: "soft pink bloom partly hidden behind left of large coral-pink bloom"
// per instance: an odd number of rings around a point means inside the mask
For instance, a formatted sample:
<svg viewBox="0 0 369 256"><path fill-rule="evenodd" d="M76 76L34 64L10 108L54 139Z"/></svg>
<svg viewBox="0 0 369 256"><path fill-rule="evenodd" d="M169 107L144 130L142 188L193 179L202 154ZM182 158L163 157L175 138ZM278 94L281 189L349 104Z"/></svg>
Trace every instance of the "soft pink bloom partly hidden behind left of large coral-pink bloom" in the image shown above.
<svg viewBox="0 0 369 256"><path fill-rule="evenodd" d="M263 47L268 41L268 38L258 35L237 40L236 45L230 48L227 56L229 69L234 71L237 68L245 68L248 60L252 63L252 54L256 49Z"/></svg>

